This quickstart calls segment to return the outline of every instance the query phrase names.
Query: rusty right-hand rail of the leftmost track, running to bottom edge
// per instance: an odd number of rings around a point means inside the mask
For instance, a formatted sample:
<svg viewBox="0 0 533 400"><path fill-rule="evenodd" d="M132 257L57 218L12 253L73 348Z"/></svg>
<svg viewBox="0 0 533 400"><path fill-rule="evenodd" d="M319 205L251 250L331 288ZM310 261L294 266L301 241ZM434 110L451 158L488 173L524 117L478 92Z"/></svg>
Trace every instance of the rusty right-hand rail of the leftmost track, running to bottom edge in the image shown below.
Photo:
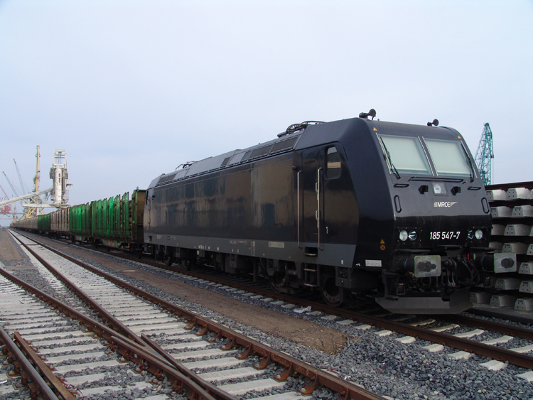
<svg viewBox="0 0 533 400"><path fill-rule="evenodd" d="M26 291L29 291L36 295L37 298L41 299L41 301L45 301L46 303L52 305L53 307L57 308L58 310L62 311L65 315L69 316L70 318L77 319L82 323L82 325L85 325L86 328L92 330L95 334L104 337L107 339L107 341L110 343L112 342L112 338L119 338L119 340L122 340L124 343L131 342L128 337L125 337L121 335L120 333L115 332L111 328L107 327L106 325L103 325L102 323L99 323L98 321L93 320L92 318L88 317L87 315L80 313L79 311L75 310L74 308L71 308L70 306L61 303L57 299L53 298L52 296L48 295L47 293L44 293L43 291L39 290L38 288L31 286L29 283L26 283L25 281L22 281L21 279L18 279L13 274L9 273L9 271L6 271L5 269L0 268L0 274L5 276L10 281L16 283L18 286L21 286ZM180 382L178 382L178 386L176 386L176 389L187 389L187 396L188 399L191 400L198 400L198 396L196 394L203 392L204 389L198 387L197 384L189 384L190 379L188 377L185 377L181 374L181 372L176 371L175 368L171 367L171 365L168 364L168 362L165 362L165 360L162 360L157 355L150 355L151 349L149 347L146 347L144 350L142 350L142 347L139 346L138 343L134 343L135 346L129 346L128 350L124 350L124 347L118 347L119 354L126 355L126 357L129 358L129 361L135 362L136 364L141 364L143 362L147 362L150 367L150 362L153 360L156 360L158 362L157 366L161 367L161 371L167 373L168 376L178 379L178 377L181 377L183 379L179 379ZM127 353L126 353L127 352ZM134 357L131 357L133 355ZM144 357L145 355L150 355L150 357ZM143 358L141 358L141 356ZM176 374L178 373L178 374ZM174 382L176 383L176 382ZM207 391L207 390L206 390ZM225 400L220 399L215 396L201 396L201 399L204 400ZM57 400L56 399L50 399L50 400Z"/></svg>

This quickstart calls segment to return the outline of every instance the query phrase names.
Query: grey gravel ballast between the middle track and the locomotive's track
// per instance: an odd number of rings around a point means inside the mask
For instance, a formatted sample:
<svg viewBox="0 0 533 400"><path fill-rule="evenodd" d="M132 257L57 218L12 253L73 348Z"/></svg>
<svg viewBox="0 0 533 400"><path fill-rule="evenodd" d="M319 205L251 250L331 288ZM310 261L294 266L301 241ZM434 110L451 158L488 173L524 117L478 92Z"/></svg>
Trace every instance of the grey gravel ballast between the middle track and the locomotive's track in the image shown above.
<svg viewBox="0 0 533 400"><path fill-rule="evenodd" d="M6 232L1 232L5 234ZM63 245L63 243L62 243ZM55 245L57 247L57 245ZM86 250L87 252L92 252ZM79 257L79 249L73 248L70 255ZM295 318L305 318L317 325L325 328L339 330L347 335L348 340L345 346L338 352L338 354L326 354L324 352L306 347L301 344L284 340L281 337L267 335L261 330L257 330L243 323L235 322L230 318L215 313L214 311L205 308L196 303L190 303L184 300L183 297L174 296L172 294L163 292L153 286L149 286L139 279L133 279L130 276L122 274L120 271L107 269L102 264L90 260L89 258L82 261L95 266L109 274L123 279L129 283L142 288L145 291L154 293L156 296L164 298L167 301L176 303L178 306L183 306L189 310L204 315L207 318L216 320L219 323L230 326L242 331L244 335L265 343L276 350L287 352L293 357L308 362L313 366L321 369L327 369L333 374L337 374L341 379L346 379L354 382L370 391L375 391L377 394L390 396L393 399L531 399L533 397L533 382L527 382L524 379L516 377L517 374L522 374L529 371L515 367L508 364L505 369L499 371L490 371L489 369L480 365L483 362L488 362L490 359L480 357L478 355L471 355L468 360L452 360L451 355L458 350L450 347L444 347L441 352L429 352L422 347L431 345L430 342L416 339L408 345L403 345L394 339L401 337L397 333L391 333L388 336L379 337L376 333L379 328L370 328L368 330L357 329L357 323L352 325L340 325L335 320L324 320L323 315L309 315L303 313L296 315L293 310L287 310L281 306L274 306L271 303L265 303L260 299L254 299L252 296L243 296L243 293L235 293L236 291L227 291L222 288L215 288L208 283L198 282L198 279L188 279L178 274L157 269L153 266L147 266L136 261L128 261L118 259L111 254L100 254L102 260L113 261L124 265L124 269L141 269L157 274L165 280L185 281L196 287L205 288L209 291L215 291L224 296L230 296L240 302L254 304L267 308L269 310L276 310L278 313L285 313L286 315L295 316ZM1 254L0 254L1 257ZM9 260L1 260L4 264ZM177 269L178 271L178 269ZM36 271L17 271L16 274L23 274L24 279L31 279L32 274ZM35 281L41 279L36 276ZM32 283L33 284L33 283ZM492 318L492 320L497 320ZM507 321L497 320L497 322L507 323ZM527 325L517 324L524 328L531 327ZM462 333L466 328L456 328L452 333ZM476 337L476 340L489 340L498 337L498 334L483 333ZM513 339L505 344L499 346L504 348L519 347L522 345L529 345L528 340ZM291 384L302 384L302 382L289 382ZM327 392L327 391L326 391ZM311 399L327 399L328 393L323 391L315 391ZM326 397L324 397L326 396ZM248 398L248 397L243 397Z"/></svg>

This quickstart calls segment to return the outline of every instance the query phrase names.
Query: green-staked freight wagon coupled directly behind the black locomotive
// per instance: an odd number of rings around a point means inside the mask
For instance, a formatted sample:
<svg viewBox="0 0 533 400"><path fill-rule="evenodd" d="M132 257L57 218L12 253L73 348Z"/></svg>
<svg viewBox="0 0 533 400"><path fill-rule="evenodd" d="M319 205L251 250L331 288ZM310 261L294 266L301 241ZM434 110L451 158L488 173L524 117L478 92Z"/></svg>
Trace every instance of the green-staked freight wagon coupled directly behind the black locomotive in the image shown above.
<svg viewBox="0 0 533 400"><path fill-rule="evenodd" d="M92 205L92 240L95 244L141 252L146 190L134 190Z"/></svg>

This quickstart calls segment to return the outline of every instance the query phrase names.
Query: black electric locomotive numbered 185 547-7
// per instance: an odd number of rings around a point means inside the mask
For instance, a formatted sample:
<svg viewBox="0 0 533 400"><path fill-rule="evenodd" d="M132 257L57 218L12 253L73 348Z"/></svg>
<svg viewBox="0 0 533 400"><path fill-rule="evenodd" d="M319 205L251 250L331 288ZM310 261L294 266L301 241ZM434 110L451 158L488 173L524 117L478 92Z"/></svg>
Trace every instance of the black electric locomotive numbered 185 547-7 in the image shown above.
<svg viewBox="0 0 533 400"><path fill-rule="evenodd" d="M295 124L154 179L145 252L331 305L370 295L397 313L469 308L483 270L516 259L488 253L490 207L465 141L369 114Z"/></svg>

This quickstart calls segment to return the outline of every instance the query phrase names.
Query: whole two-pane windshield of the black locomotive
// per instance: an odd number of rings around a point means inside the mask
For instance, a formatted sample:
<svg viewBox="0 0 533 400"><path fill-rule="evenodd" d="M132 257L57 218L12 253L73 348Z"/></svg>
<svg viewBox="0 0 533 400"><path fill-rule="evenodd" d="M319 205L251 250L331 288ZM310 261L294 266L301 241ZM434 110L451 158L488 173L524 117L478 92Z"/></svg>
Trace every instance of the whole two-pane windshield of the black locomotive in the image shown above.
<svg viewBox="0 0 533 400"><path fill-rule="evenodd" d="M424 138L422 142L418 137L392 135L379 135L379 139L391 173L436 176L473 173L460 141Z"/></svg>

